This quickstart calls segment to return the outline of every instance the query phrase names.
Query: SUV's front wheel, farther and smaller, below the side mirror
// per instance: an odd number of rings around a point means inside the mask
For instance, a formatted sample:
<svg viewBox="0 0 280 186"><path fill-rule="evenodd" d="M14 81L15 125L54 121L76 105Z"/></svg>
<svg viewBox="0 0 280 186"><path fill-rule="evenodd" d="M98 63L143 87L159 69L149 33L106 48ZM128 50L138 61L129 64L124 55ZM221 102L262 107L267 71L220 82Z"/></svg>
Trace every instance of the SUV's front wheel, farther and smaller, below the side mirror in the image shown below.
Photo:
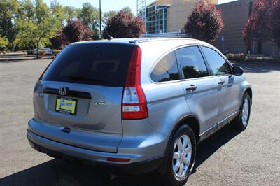
<svg viewBox="0 0 280 186"><path fill-rule="evenodd" d="M235 127L239 131L244 131L247 128L248 122L250 120L250 114L251 114L251 97L246 92L242 98L239 115L235 118Z"/></svg>

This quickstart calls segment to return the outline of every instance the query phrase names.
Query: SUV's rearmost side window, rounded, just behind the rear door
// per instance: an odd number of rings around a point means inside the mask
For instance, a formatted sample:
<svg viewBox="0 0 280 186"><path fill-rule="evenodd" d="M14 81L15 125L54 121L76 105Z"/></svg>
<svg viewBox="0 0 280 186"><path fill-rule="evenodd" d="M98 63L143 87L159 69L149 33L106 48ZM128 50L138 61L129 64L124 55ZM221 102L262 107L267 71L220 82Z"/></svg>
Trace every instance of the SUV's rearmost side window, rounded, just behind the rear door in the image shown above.
<svg viewBox="0 0 280 186"><path fill-rule="evenodd" d="M165 82L170 80L179 80L179 71L176 62L175 52L170 52L163 57L151 73L151 79L154 82Z"/></svg>

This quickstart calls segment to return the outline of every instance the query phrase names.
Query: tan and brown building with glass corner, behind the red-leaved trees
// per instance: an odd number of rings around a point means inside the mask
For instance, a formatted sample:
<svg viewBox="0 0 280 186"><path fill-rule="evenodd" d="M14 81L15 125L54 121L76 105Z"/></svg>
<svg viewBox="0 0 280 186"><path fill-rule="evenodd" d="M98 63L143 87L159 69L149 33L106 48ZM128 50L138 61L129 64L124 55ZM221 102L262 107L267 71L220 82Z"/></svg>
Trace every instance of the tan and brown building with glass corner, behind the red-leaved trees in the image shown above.
<svg viewBox="0 0 280 186"><path fill-rule="evenodd" d="M181 37L182 29L187 22L187 16L200 0L158 0L146 6L146 30L144 37ZM222 52L246 53L246 45L242 30L251 12L253 0L237 0L230 3L218 4L218 0L210 2L221 9L223 28L214 44ZM273 43L257 43L249 48L251 54L272 55L278 49Z"/></svg>

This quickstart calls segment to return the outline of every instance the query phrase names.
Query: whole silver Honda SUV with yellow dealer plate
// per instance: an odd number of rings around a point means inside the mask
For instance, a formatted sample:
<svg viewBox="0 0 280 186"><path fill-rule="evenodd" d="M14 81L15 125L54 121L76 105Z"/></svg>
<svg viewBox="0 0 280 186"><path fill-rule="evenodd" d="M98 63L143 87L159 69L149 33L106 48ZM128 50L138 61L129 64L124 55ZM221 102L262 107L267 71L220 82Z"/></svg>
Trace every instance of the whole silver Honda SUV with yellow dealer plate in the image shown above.
<svg viewBox="0 0 280 186"><path fill-rule="evenodd" d="M73 43L36 83L27 138L52 157L157 170L183 185L197 143L231 121L246 129L252 90L242 73L188 38Z"/></svg>

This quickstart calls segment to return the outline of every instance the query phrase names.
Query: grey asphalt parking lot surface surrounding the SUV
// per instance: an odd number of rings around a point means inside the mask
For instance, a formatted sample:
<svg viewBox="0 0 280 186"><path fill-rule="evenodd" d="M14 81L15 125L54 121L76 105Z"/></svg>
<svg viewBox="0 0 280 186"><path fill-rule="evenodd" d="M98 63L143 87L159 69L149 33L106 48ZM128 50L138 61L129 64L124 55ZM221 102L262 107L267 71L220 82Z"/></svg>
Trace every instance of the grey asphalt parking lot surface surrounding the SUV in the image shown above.
<svg viewBox="0 0 280 186"><path fill-rule="evenodd" d="M112 176L31 149L32 91L50 60L0 63L0 185L160 185L155 174ZM200 144L187 185L280 184L280 64L242 66L253 86L246 131L228 125Z"/></svg>

